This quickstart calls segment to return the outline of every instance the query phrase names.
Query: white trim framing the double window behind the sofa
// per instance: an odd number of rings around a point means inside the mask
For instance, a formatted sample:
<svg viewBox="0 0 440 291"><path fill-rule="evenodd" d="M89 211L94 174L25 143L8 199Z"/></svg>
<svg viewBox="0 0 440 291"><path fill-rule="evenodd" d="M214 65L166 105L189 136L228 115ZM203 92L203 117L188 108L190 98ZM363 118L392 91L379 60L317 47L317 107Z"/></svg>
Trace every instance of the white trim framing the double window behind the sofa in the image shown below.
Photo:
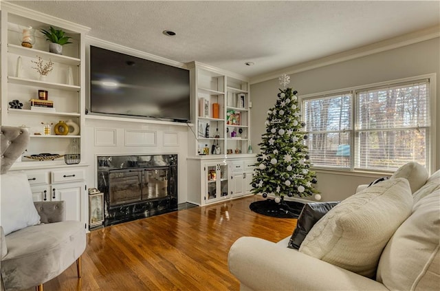
<svg viewBox="0 0 440 291"><path fill-rule="evenodd" d="M346 87L346 88L342 88L342 89L335 89L335 90L329 90L329 91L323 91L323 92L318 92L318 93L313 93L313 94L305 94L305 95L301 95L298 96L299 98L299 104L302 107L303 106L303 100L308 100L308 99L313 99L313 98L317 98L317 97L325 97L325 96L334 96L334 95L338 95L338 94L347 94L347 92L350 92L351 94L353 94L353 98L352 98L352 106L353 106L353 114L352 114L352 127L353 129L351 129L351 131L353 132L353 134L351 134L351 144L354 144L355 142L355 127L356 127L356 123L355 120L357 118L357 106L356 103L356 91L361 90L361 89L368 89L371 87L382 87L382 86L393 86L396 85L397 83L406 83L406 82L413 82L413 81L417 81L420 79L429 79L429 90L430 90L430 107L429 107L429 116L430 116L430 130L429 130L429 135L430 135L430 153L429 153L429 159L428 159L428 164L426 165L426 168L428 170L428 173L432 173L432 170L435 169L435 161L437 160L437 114L436 114L436 110L437 110L437 74L436 73L432 73L432 74L424 74L424 75L420 75L420 76L412 76L412 77L408 77L408 78L400 78L400 79L395 79L395 80L387 80L387 81L383 81L383 82L379 82L379 83L371 83L371 84L366 84L366 85L359 85L359 86L355 86L355 87ZM303 108L301 108L303 109ZM301 119L303 121L305 121L305 116L302 115ZM350 149L350 154L351 156L353 156L354 154L354 147L351 147ZM365 169L355 169L354 167L354 161L355 159L351 159L351 164L350 164L350 168L351 169L338 169L338 168L333 168L332 166L313 166L313 169L316 170L324 170L324 171L331 171L331 172L353 172L353 173L365 173L365 172L374 172L374 173L391 173L391 171L378 171L378 170L374 170L374 171L368 171ZM312 161L313 164L313 161Z"/></svg>

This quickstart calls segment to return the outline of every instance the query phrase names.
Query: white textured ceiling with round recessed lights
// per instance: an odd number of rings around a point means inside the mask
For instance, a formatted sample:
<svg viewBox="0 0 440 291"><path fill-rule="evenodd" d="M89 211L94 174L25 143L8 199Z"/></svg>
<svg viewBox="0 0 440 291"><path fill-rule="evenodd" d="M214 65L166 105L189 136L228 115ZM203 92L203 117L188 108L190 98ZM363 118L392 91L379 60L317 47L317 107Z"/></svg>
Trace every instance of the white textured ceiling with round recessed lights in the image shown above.
<svg viewBox="0 0 440 291"><path fill-rule="evenodd" d="M439 1L10 2L98 39L249 77L440 25Z"/></svg>

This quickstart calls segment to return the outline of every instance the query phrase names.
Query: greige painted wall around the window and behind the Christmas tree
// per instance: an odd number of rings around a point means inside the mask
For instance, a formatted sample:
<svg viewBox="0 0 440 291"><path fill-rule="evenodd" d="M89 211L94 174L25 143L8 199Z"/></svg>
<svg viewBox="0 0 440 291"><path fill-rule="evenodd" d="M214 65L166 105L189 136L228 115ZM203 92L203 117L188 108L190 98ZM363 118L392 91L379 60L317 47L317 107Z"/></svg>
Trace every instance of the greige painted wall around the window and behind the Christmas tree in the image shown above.
<svg viewBox="0 0 440 291"><path fill-rule="evenodd" d="M299 95L314 94L322 91L354 87L386 80L395 80L423 74L437 74L437 105L432 109L434 116L440 114L440 38L415 43L394 50L371 54L350 61L310 69L291 75L290 86L298 90ZM252 146L258 150L261 134L265 131L267 109L276 102L278 78L251 85L252 94ZM440 169L440 118L437 118L437 153L434 160L434 172ZM313 161L312 161L313 162ZM340 173L337 171L317 171L317 188L323 201L342 200L352 195L358 184L369 183L381 175L372 173ZM383 176L383 175L382 175Z"/></svg>

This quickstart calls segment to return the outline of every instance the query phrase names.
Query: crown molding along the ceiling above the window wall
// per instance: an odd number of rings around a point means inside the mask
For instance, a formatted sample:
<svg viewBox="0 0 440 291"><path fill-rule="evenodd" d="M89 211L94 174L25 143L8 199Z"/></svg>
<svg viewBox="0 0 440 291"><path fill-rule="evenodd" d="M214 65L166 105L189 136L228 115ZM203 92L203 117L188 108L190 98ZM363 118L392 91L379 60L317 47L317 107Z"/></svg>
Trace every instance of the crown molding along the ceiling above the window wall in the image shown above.
<svg viewBox="0 0 440 291"><path fill-rule="evenodd" d="M392 39L387 39L385 41L372 43L371 45L365 45L363 47L358 47L353 50L341 52L339 54L317 58L313 61L300 63L298 65L293 65L284 69L278 69L274 72L255 76L250 78L250 84L252 85L264 82L266 80L272 80L274 78L278 78L279 76L281 76L281 74L297 74L300 72L308 71L310 69L325 67L327 65L333 65L344 61L353 60L354 58L361 58L362 56L369 56L371 54L385 52L387 50L394 50L398 47L404 47L406 45L412 45L414 43L420 43L422 41L428 41L430 39L435 39L438 37L440 37L440 27L432 26L431 28L426 28L417 32L411 32L409 34L397 36Z"/></svg>

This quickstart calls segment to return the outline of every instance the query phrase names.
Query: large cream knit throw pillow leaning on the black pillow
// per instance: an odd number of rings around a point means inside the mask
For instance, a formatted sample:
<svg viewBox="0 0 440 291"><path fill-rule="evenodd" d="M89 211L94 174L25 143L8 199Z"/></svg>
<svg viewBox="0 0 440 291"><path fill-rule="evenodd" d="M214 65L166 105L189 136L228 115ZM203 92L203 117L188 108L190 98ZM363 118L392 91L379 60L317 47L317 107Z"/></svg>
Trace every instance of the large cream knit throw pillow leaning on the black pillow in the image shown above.
<svg viewBox="0 0 440 291"><path fill-rule="evenodd" d="M408 180L377 183L333 207L310 230L299 251L373 278L382 250L411 208Z"/></svg>

